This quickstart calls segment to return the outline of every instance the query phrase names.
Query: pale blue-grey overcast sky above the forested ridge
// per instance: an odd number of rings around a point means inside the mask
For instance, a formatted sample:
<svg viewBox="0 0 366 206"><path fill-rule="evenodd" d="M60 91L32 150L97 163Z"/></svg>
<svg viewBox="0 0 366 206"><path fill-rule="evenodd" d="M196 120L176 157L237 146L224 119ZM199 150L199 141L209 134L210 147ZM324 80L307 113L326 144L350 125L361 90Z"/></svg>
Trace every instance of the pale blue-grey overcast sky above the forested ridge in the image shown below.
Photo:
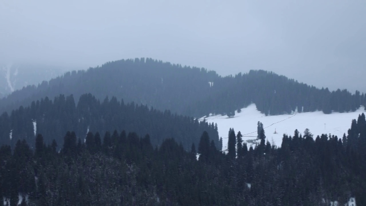
<svg viewBox="0 0 366 206"><path fill-rule="evenodd" d="M365 0L0 0L0 62L151 57L366 92Z"/></svg>

